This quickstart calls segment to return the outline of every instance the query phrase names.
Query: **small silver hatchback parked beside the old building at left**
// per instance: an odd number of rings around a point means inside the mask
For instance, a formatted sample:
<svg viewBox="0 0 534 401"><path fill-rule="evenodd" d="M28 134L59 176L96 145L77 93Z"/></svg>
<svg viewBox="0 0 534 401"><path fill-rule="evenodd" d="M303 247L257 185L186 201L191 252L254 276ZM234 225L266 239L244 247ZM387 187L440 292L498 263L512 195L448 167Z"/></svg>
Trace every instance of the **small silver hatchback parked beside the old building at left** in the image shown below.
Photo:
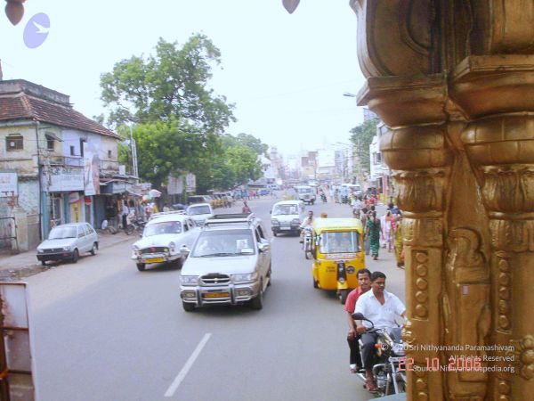
<svg viewBox="0 0 534 401"><path fill-rule="evenodd" d="M80 254L98 250L98 234L89 223L56 225L37 247L37 260L43 266L47 260L70 260L76 263Z"/></svg>

